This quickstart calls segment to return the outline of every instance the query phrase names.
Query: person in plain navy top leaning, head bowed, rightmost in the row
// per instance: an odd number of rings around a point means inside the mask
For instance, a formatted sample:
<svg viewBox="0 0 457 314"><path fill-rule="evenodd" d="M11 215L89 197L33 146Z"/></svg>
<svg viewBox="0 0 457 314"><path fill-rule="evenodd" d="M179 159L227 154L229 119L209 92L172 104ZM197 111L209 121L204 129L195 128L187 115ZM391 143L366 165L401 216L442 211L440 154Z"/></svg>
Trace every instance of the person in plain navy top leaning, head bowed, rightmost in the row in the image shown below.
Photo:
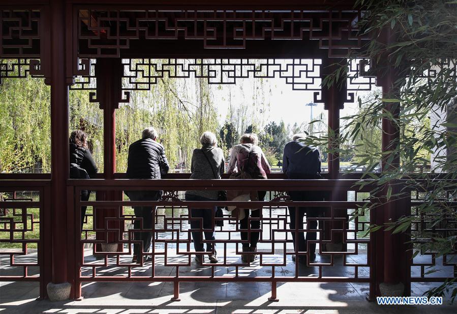
<svg viewBox="0 0 457 314"><path fill-rule="evenodd" d="M284 147L283 155L283 173L288 179L320 179L321 178L321 158L319 150L316 147L304 144L304 134L294 134L292 141ZM289 196L292 201L323 201L323 193L316 191L290 191ZM316 232L307 232L306 239L304 233L296 233L297 229L303 228L303 217L306 214L308 230L317 228L317 219L320 210L319 207L294 207L289 206L290 229L295 252L305 252L310 248L310 260L316 259L316 243L308 241L316 240ZM296 260L296 255L292 255L292 260ZM304 256L299 257L299 262L306 263Z"/></svg>

